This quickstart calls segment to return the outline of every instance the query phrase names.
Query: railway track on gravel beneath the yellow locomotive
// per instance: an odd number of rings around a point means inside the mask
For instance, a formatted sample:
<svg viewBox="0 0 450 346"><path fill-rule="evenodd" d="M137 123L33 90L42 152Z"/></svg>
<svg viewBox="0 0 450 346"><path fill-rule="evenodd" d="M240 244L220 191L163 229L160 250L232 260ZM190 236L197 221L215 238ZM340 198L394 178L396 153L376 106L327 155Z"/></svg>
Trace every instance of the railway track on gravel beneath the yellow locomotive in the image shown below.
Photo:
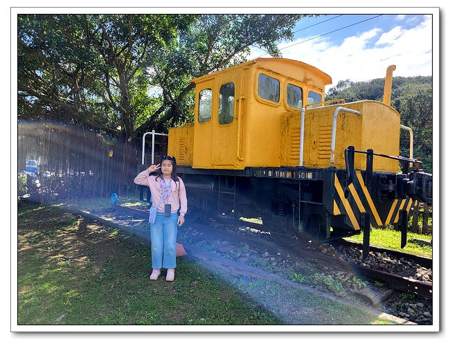
<svg viewBox="0 0 450 346"><path fill-rule="evenodd" d="M144 212L143 210L137 210L134 208L128 208L119 205L114 205L113 208L114 210L117 210L119 212L131 213L132 215L143 219L147 217L147 212ZM282 253L291 256L291 258L297 258L300 261L307 260L309 262L322 262L327 264L327 266L336 266L337 264L339 264L339 261L342 260L308 249L305 240L299 240L298 246L296 246L295 248L292 246L283 246L282 244L278 244L277 242L274 242L271 237L267 235L267 233L258 230L258 224L253 224L246 221L232 219L226 220L225 224L222 222L222 220L215 220L215 227L190 222L190 226L192 228L196 228L197 230L202 230L204 233L208 233L209 235L215 233L215 237L217 237L217 239L224 239L226 235L227 237L231 237L228 239L233 239L235 242L249 244L255 247L264 246L265 248L271 249L271 251L275 253L282 251ZM217 226L219 226L220 228L219 231L217 230ZM254 234L258 236L244 235L242 232L236 232L236 230L242 226L253 228L253 230L255 230ZM233 230L231 230L230 228L233 228ZM339 243L341 244L341 246L358 246L358 244L345 241L339 241ZM420 263L421 265L427 266L427 268L431 268L431 260L424 257L418 257L414 255L408 255L406 253L399 253L396 251L389 251L387 249L374 247L371 247L371 251L383 251L392 255L400 255L403 258ZM391 289L414 293L415 295L419 295L425 298L433 298L433 284L431 282L415 280L412 277L405 277L402 275L388 273L386 271L379 271L368 266L361 266L359 264L352 264L350 262L348 262L347 265L354 273L358 273L366 279L384 282L386 286L390 287Z"/></svg>

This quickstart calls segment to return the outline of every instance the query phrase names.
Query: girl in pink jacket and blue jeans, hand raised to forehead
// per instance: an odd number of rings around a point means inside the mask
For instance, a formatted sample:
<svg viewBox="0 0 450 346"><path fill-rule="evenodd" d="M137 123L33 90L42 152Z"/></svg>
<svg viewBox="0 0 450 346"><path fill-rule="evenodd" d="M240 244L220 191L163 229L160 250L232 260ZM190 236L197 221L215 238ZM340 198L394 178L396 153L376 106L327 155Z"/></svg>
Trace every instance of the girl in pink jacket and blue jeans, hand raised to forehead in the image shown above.
<svg viewBox="0 0 450 346"><path fill-rule="evenodd" d="M159 174L149 176L156 170L160 170ZM165 280L173 281L177 266L177 226L184 223L188 210L186 188L177 176L177 161L174 156L161 156L160 163L139 173L134 183L150 188L152 206L158 208L154 224L150 224L153 268L150 280L156 280L161 268L167 268Z"/></svg>

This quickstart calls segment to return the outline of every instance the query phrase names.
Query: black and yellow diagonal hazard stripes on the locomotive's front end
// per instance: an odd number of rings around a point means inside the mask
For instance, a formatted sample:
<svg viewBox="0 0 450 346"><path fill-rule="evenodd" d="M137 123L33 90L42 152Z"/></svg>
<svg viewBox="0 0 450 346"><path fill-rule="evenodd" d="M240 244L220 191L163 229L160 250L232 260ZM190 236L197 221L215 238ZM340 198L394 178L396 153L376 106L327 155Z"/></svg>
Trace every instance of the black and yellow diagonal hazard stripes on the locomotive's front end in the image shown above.
<svg viewBox="0 0 450 346"><path fill-rule="evenodd" d="M370 214L370 224L372 227L381 227L388 224L395 224L399 221L399 210L410 210L413 201L410 197L406 199L395 199L390 206L389 211L384 208L386 212L380 212L375 206L370 192L364 183L361 172L356 171L356 178L348 185L347 198L341 181L339 181L336 174L334 174L334 200L333 200L333 215L347 215L354 230L360 230L359 218L362 212ZM387 213L387 215L386 215Z"/></svg>

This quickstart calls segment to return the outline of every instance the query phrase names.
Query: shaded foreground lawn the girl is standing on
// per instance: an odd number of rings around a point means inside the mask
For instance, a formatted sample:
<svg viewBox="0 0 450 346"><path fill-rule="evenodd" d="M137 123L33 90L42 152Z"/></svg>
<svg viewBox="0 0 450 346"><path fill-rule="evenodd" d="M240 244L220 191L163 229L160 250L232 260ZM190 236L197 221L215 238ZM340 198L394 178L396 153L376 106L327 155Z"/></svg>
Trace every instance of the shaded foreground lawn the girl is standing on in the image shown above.
<svg viewBox="0 0 450 346"><path fill-rule="evenodd" d="M174 282L150 281L148 242L57 207L19 203L17 273L19 325L392 323L264 280L230 282L188 257Z"/></svg>

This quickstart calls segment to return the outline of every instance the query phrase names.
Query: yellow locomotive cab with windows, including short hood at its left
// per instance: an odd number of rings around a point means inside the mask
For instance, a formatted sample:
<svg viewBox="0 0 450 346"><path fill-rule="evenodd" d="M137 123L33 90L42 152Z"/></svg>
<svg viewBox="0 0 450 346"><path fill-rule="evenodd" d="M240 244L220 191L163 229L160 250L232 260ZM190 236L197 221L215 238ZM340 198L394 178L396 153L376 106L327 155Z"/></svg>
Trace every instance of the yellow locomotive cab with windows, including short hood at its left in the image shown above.
<svg viewBox="0 0 450 346"><path fill-rule="evenodd" d="M323 104L329 75L303 62L256 59L195 78L195 121L170 129L168 151L192 168L282 164L282 114Z"/></svg>

